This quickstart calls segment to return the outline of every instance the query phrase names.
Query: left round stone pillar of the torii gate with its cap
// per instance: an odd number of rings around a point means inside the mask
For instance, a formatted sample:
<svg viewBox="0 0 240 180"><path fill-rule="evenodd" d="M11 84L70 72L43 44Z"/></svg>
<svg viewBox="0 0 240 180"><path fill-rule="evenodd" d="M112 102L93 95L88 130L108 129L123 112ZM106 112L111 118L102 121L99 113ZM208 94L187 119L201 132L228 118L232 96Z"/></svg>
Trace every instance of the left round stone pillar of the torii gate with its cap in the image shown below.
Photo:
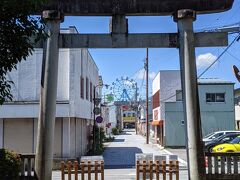
<svg viewBox="0 0 240 180"><path fill-rule="evenodd" d="M58 79L58 37L62 16L59 11L43 11L48 37L43 50L40 111L35 171L38 179L52 179L54 126Z"/></svg>

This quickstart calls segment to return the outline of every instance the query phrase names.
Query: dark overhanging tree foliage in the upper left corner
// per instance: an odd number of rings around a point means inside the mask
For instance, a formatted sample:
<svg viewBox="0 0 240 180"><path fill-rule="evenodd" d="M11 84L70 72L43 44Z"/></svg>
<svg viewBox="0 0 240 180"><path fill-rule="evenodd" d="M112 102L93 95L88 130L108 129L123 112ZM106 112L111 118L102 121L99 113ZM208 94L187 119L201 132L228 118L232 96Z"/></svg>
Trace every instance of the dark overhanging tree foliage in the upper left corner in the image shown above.
<svg viewBox="0 0 240 180"><path fill-rule="evenodd" d="M31 16L44 0L2 0L0 3L0 104L11 101L13 82L7 73L33 52L33 43L46 37L40 17ZM34 41L31 37L35 37Z"/></svg>

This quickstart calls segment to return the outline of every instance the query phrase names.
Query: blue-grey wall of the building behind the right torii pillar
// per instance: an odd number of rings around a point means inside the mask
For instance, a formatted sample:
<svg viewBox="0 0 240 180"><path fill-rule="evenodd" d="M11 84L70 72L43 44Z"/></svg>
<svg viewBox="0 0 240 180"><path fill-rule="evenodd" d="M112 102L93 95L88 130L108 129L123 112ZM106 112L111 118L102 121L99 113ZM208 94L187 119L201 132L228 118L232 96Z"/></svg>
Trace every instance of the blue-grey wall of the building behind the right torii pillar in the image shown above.
<svg viewBox="0 0 240 180"><path fill-rule="evenodd" d="M206 93L225 93L224 103L207 103ZM233 85L199 85L203 136L218 130L235 129ZM185 146L182 102L165 103L166 146ZM172 133L175 132L175 133Z"/></svg>

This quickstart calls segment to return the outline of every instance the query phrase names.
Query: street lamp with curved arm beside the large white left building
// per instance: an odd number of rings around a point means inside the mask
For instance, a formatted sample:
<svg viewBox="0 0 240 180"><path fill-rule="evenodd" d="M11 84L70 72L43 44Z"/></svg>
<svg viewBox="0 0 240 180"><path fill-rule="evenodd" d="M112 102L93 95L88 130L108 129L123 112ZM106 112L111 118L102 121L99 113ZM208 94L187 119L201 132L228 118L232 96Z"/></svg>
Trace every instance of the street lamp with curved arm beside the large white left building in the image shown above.
<svg viewBox="0 0 240 180"><path fill-rule="evenodd" d="M96 105L98 106L101 102L101 98L96 98L96 89L97 87L103 87L105 86L106 88L108 88L108 84L97 84L96 86L94 86L93 89L93 154L95 154L95 149L96 149L96 140L95 140L95 131L96 131L96 114L100 114L100 109L96 107Z"/></svg>

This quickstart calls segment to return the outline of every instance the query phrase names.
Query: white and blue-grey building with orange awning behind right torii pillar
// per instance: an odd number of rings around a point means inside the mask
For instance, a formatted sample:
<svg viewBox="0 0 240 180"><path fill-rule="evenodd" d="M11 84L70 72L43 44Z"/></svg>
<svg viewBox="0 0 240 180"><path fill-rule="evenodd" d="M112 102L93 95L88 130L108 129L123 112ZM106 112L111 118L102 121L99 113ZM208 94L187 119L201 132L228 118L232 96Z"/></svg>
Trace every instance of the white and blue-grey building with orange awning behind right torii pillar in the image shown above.
<svg viewBox="0 0 240 180"><path fill-rule="evenodd" d="M234 83L199 79L202 134L235 129ZM164 146L185 146L180 71L160 71L153 80L155 138ZM174 133L173 133L174 132Z"/></svg>

